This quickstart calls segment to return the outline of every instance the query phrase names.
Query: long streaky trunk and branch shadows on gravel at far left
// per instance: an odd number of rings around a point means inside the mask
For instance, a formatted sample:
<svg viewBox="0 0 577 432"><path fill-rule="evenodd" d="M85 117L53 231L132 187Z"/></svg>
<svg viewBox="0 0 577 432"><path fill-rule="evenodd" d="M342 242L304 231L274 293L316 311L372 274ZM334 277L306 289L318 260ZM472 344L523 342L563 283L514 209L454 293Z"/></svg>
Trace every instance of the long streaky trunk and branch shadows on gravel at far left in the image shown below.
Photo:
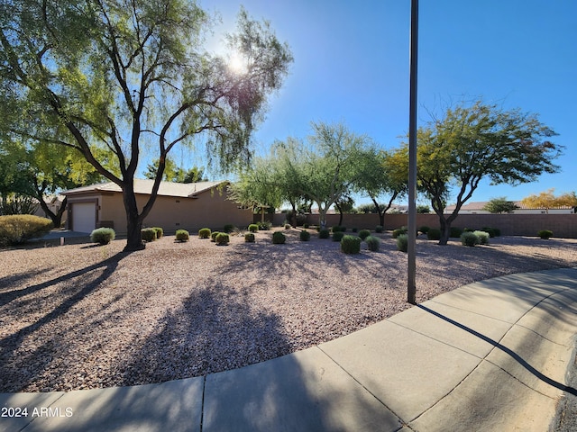
<svg viewBox="0 0 577 432"><path fill-rule="evenodd" d="M50 334L35 348L27 347L26 341L30 337L38 338L33 335L41 333L45 326L59 320L88 294L94 292L110 275L113 275L118 263L126 256L127 253L121 252L92 266L80 268L41 284L33 284L24 289L15 286L11 291L0 293L0 305L4 307L3 320L9 320L12 314L26 314L30 317L23 320L27 325L22 328L10 334L2 332L5 336L0 338L0 377L2 377L0 391L20 391L44 373L53 357L60 356L61 347L57 339L63 335ZM55 294L50 294L50 301L56 305L53 308L43 304L48 302L47 299L41 300L42 304L34 304L33 302L38 303L36 300L32 302L23 299L28 294L39 293L55 285L61 287L57 294L58 298L55 298ZM46 308L46 312L34 316L34 312L42 307ZM82 324L78 323L78 326Z"/></svg>

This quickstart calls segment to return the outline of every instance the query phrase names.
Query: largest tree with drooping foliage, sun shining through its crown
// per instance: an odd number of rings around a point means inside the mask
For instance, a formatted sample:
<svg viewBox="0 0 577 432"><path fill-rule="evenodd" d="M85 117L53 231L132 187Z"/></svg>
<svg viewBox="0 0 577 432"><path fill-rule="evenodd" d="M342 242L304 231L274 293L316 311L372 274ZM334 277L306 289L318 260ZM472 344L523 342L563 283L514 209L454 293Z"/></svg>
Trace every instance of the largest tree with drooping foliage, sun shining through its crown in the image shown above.
<svg viewBox="0 0 577 432"><path fill-rule="evenodd" d="M269 23L243 10L225 56L204 49L211 17L192 0L2 0L0 132L76 149L123 191L126 250L142 248L169 151L203 134L230 168L250 156L252 130L292 57ZM144 146L159 159L139 208L133 179ZM119 174L98 149L114 154Z"/></svg>

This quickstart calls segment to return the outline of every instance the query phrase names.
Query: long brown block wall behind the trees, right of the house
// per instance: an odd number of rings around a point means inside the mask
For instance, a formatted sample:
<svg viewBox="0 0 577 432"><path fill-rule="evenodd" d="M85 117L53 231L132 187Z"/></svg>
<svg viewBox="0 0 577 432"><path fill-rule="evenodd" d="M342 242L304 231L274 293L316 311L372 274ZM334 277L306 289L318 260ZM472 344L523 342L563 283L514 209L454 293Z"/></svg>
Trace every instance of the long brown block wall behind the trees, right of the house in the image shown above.
<svg viewBox="0 0 577 432"><path fill-rule="evenodd" d="M337 225L340 215L327 214L329 227ZM284 213L265 215L274 225L280 225L286 219ZM254 215L254 220L261 220L261 215ZM307 223L318 224L317 214L307 214ZM408 224L407 214L386 214L385 229L397 229ZM347 228L374 229L379 225L378 214L343 214L343 225ZM417 227L426 225L439 228L436 214L417 214ZM482 227L498 228L503 236L535 237L541 229L551 229L554 237L577 238L577 214L460 214L452 223L453 227L481 229Z"/></svg>

